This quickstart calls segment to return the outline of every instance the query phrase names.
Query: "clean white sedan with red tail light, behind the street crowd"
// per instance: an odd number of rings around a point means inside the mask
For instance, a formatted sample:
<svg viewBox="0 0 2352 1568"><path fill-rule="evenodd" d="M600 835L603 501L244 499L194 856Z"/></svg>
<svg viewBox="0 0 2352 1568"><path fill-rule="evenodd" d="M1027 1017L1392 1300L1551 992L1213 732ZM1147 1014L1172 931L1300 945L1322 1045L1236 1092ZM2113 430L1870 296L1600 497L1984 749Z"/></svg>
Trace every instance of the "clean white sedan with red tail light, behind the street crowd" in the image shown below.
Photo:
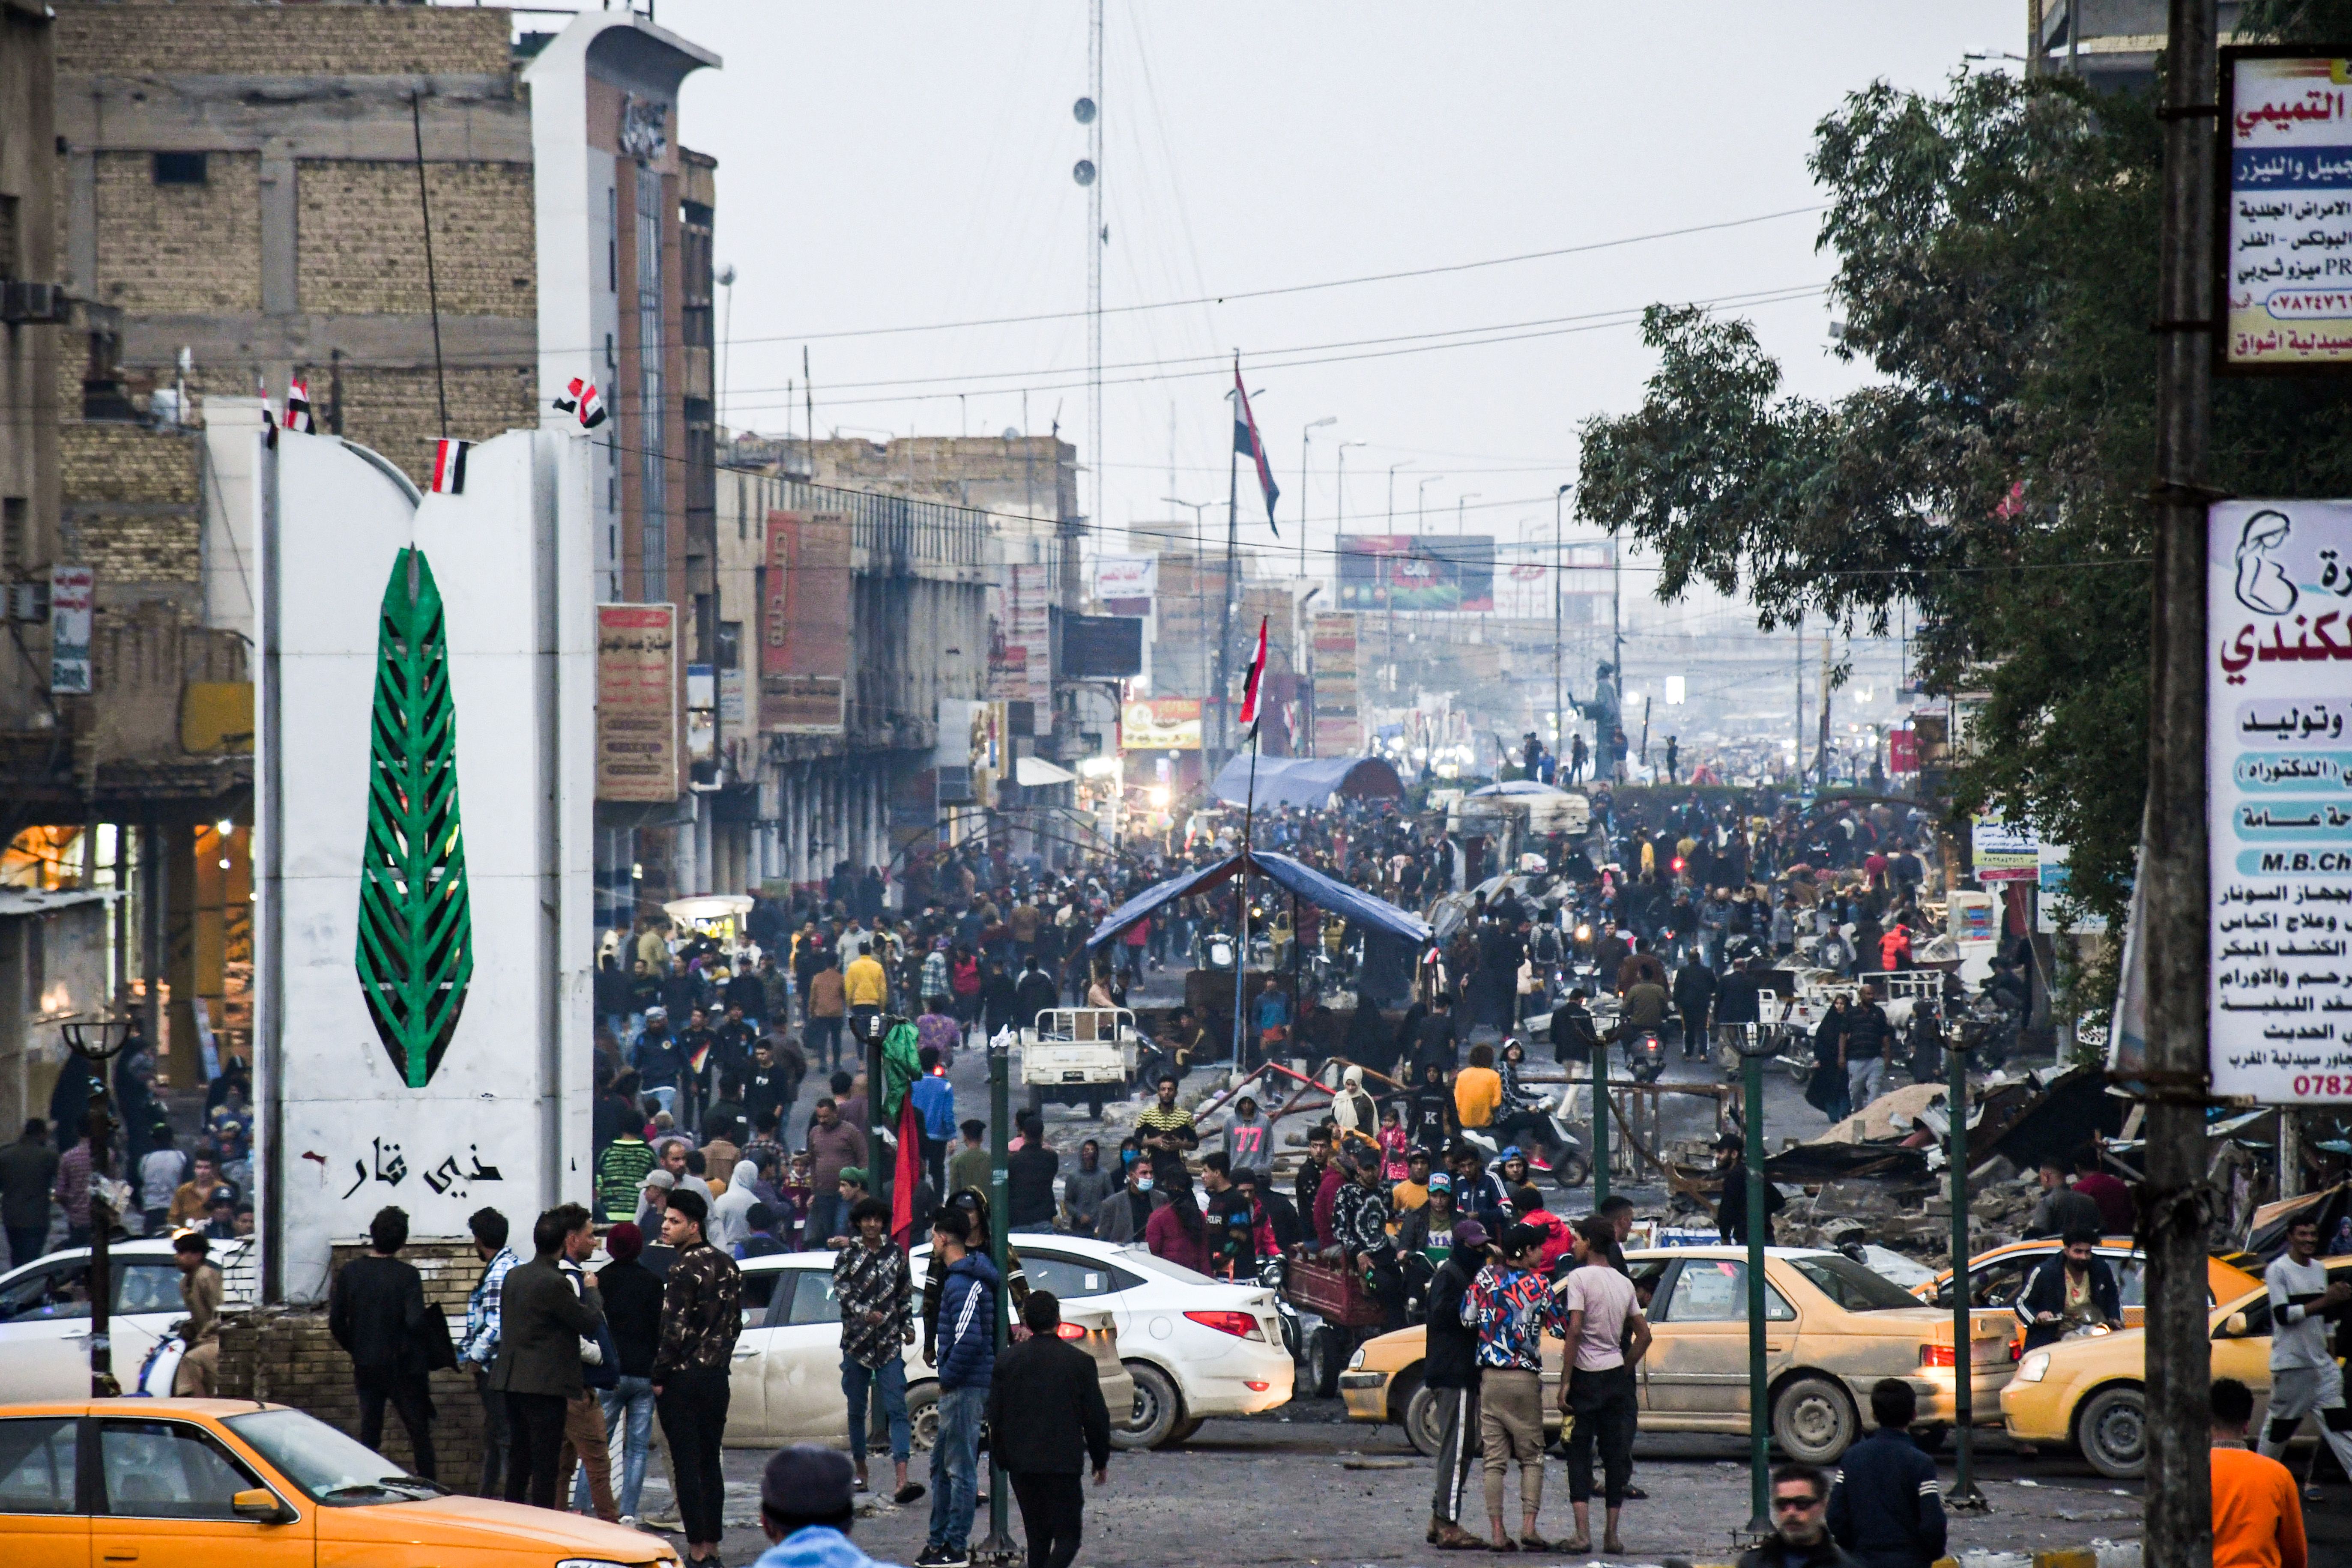
<svg viewBox="0 0 2352 1568"><path fill-rule="evenodd" d="M1136 1392L1127 1406L1110 1406L1112 1446L1162 1448L1185 1441L1211 1415L1289 1403L1296 1366L1265 1286L1225 1284L1141 1246L1089 1237L1018 1234L1014 1251L1030 1288L1051 1291L1065 1309L1075 1302L1117 1321ZM931 1248L915 1248L917 1276L929 1255ZM1124 1422L1122 1410L1129 1410Z"/></svg>

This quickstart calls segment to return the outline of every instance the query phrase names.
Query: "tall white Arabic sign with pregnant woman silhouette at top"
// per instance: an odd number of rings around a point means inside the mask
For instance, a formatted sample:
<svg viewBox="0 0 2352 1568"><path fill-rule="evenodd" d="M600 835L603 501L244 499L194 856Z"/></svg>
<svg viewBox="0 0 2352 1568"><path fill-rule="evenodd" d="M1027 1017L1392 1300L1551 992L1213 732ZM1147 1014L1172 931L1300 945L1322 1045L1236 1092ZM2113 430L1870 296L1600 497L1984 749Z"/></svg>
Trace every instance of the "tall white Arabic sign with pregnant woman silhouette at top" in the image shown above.
<svg viewBox="0 0 2352 1568"><path fill-rule="evenodd" d="M2352 501L2206 517L2213 1093L2352 1100Z"/></svg>

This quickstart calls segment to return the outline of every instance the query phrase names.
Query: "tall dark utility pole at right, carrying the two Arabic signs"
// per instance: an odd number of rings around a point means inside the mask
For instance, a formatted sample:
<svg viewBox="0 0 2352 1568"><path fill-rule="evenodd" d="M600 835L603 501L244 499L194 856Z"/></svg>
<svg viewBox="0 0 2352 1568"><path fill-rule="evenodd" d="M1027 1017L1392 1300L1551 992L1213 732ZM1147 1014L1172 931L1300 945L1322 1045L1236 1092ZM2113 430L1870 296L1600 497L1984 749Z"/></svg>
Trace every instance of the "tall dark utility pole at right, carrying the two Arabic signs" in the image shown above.
<svg viewBox="0 0 2352 1568"><path fill-rule="evenodd" d="M2171 0L2157 256L2147 818L2147 1561L2213 1561L2206 1340L2206 505L2213 416L2216 0ZM2072 38L2067 40L2072 47Z"/></svg>

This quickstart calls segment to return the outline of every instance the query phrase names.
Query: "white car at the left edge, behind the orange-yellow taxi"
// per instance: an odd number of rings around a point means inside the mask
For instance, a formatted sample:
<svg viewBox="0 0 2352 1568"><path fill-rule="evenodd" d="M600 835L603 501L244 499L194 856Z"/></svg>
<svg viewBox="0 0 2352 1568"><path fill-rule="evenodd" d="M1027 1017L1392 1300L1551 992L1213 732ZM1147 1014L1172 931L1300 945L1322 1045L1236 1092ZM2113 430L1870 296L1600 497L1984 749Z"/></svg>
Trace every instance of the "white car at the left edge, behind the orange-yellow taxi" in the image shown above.
<svg viewBox="0 0 2352 1568"><path fill-rule="evenodd" d="M148 1352L188 1309L167 1237L115 1241L108 1251L108 1335L125 1389ZM214 1241L223 1305L252 1300L252 1241ZM169 1347L165 1347L169 1352ZM169 1371L162 1392L169 1392ZM0 1274L0 1403L73 1399L89 1392L89 1248L71 1246Z"/></svg>

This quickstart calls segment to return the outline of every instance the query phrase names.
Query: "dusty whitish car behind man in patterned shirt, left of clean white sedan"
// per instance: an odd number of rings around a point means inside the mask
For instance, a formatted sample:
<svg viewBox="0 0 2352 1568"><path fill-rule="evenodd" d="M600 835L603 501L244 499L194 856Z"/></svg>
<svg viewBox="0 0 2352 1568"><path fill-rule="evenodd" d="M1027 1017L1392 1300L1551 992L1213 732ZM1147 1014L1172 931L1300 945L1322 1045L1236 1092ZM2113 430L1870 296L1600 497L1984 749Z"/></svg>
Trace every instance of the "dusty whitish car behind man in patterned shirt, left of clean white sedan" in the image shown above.
<svg viewBox="0 0 2352 1568"><path fill-rule="evenodd" d="M915 1288L931 1248L915 1253ZM906 1408L915 1446L931 1448L938 1432L938 1371L922 1359L922 1335L906 1347ZM1063 1302L1061 1338L1082 1342L1103 1382L1112 1420L1134 1406L1136 1385L1120 1363L1112 1312ZM727 1443L844 1443L849 1410L842 1399L842 1307L833 1295L833 1253L781 1253L743 1262L743 1331L727 1373Z"/></svg>

